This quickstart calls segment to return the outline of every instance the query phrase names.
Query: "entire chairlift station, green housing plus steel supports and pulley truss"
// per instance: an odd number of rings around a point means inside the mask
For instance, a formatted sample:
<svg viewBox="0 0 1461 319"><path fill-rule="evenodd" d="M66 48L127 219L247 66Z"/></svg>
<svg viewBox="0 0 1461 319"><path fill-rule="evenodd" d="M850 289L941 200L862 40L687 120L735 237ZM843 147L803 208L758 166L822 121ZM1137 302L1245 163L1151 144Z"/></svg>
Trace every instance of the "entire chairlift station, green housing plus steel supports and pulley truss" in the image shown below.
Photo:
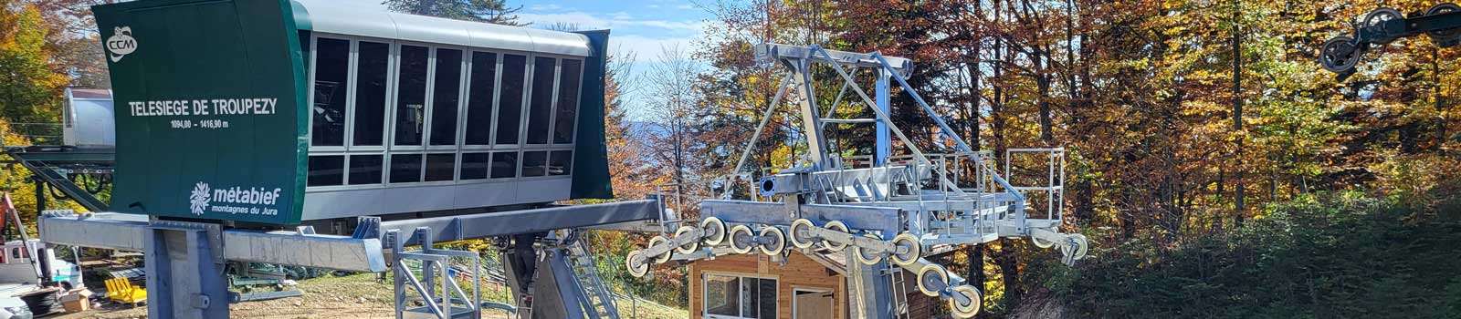
<svg viewBox="0 0 1461 319"><path fill-rule="evenodd" d="M254 297L228 290L228 275L250 275L251 264L390 271L397 318L481 318L482 309L618 318L581 230L665 235L615 264L636 275L672 259L710 269L717 258L811 258L843 269L844 304L833 318L907 318L909 288L972 318L977 287L928 256L999 237L1056 246L1067 262L1087 249L1080 235L1058 230L1064 150L1011 150L1001 172L993 154L970 150L904 83L915 66L904 58L758 45L760 61L787 70L758 119L764 128L783 96L795 102L809 149L802 165L754 176L749 198L671 191L561 205L614 198L603 121L608 31L327 0L139 0L94 12L112 92L110 105L69 103L66 141L86 143L6 153L37 172L38 191L95 211L47 213L42 242L143 252L150 318L226 318L231 303ZM812 66L844 82L837 102L805 98L815 96ZM855 82L858 71L878 74L871 93ZM894 125L894 86L939 127ZM837 108L877 117L833 118ZM111 125L114 135L94 130ZM824 134L842 125L875 125L877 151L844 157ZM931 131L958 149L925 151L906 135ZM893 149L894 138L903 149ZM1024 172L1048 173L1007 179L1011 156L1040 159L1046 166ZM744 153L735 166L745 166ZM111 185L110 202L94 195L98 184ZM684 205L700 217L681 217ZM435 245L463 239L492 239L511 304L484 303L481 287L451 280L479 283L476 252ZM450 269L453 261L469 261L472 271ZM405 269L408 262L421 271ZM691 281L691 291L710 284ZM723 310L693 306L697 318L747 316Z"/></svg>

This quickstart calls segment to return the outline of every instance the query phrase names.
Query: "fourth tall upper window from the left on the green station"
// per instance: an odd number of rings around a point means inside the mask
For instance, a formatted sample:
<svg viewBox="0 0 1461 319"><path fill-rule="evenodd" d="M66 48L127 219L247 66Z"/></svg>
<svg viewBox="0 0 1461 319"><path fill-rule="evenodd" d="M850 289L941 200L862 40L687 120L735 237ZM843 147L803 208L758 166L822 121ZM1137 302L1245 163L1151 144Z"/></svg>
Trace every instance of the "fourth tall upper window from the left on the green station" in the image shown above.
<svg viewBox="0 0 1461 319"><path fill-rule="evenodd" d="M437 50L437 80L431 89L431 144L456 146L456 114L462 102L462 51Z"/></svg>

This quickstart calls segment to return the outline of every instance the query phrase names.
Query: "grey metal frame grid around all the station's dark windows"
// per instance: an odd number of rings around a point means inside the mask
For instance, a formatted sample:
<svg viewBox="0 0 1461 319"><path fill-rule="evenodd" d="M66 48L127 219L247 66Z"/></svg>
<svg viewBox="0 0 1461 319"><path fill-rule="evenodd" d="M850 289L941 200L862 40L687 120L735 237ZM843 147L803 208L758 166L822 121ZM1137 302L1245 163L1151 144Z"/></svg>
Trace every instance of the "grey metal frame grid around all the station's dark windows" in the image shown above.
<svg viewBox="0 0 1461 319"><path fill-rule="evenodd" d="M345 121L345 143L343 143L343 146L313 146L313 137L308 135L308 133L307 133L307 138L310 138L311 144L310 144L305 156L307 157L308 156L343 156L345 157L343 172L342 172L343 182L342 182L342 185L305 186L307 192L375 189L375 188L392 188L392 186L472 185L472 184L498 184L498 182L523 182L523 181L548 181L548 179L571 179L573 178L574 172L571 172L571 170L570 170L568 175L551 175L551 173L545 172L543 176L523 178L522 176L522 173L523 173L523 163L526 162L524 157L523 157L523 154L524 154L524 151L543 151L545 157L546 157L545 159L546 160L545 165L552 162L552 151L570 151L570 157L573 157L574 144L577 143L577 138L574 138L574 143L554 143L554 131L555 131L557 115L558 115L558 89L562 86L562 83L561 83L562 82L562 79L561 79L562 61L564 60L579 60L580 61L580 66L579 66L579 79L577 79L580 90L574 92L574 95L577 95L577 98L579 98L577 99L579 105L573 105L574 114L577 114L579 111L581 111L581 109L579 109L579 106L581 105L581 98L583 98L583 93L581 93L581 87L583 87L583 83L584 83L583 70L587 67L586 63L587 63L589 57L565 55L565 54L549 54L549 52L530 52L530 51L517 51L517 50L498 50L498 48L484 48L484 47L465 47L465 45L451 45L451 44L431 44L431 42L421 42L421 41L390 39L390 38L359 36L359 35L343 35L343 34L327 34L327 32L310 32L310 45L311 45L311 48L317 47L318 38L349 41L349 68L348 68L348 80L346 80L346 90L345 90L345 95L346 95L346 102L345 102L345 111L346 111L346 114L345 114L345 117L346 117L346 121ZM381 118L381 121L384 121L384 122L381 125L383 133L381 133L381 144L380 146L355 146L355 128L356 128L356 125L355 125L356 124L355 122L355 119L356 119L355 115L356 115L356 111L358 111L358 108L356 108L356 102L358 102L356 101L356 95L358 93L356 92L358 92L358 86L359 86L359 83L358 83L359 79L358 77L359 77L359 63L361 63L361 60L359 60L361 58L361 55L359 55L361 42L377 42L377 44L386 44L386 45L389 45L389 58L387 58L387 66L386 66L386 92L384 92L384 95L386 95L384 96L384 103L386 103L384 108L386 109L384 109L384 115ZM424 47L424 48L428 50L428 55L427 55L425 109L422 111L424 115L425 115L425 119L424 119L424 124L422 124L422 130L424 130L425 134L422 134L422 144L421 146L397 146L396 144L396 117L399 115L397 114L397 103L399 103L399 96L400 96L400 67L402 67L400 54L402 54L402 45L415 45L415 47ZM459 98L459 101L457 101L457 122L456 122L456 133L454 133L456 134L456 143L454 143L454 146L431 146L431 127L432 127L432 122L435 121L435 117L434 117L432 112L435 111L437 50L443 50L443 48L462 51L462 61L460 61L462 70L460 70L460 74L459 74L459 87L457 87L457 98ZM314 73L316 73L316 67L313 67L313 66L317 64L316 63L317 52L318 52L318 50L310 50L310 52L308 52L308 64L307 66L310 66L310 67L307 70L307 73L308 73L307 79L308 79L308 92L310 93L308 93L308 98L307 98L307 101L308 101L307 103L310 103L310 105L313 105L313 102L314 102L314 93L313 92L314 92ZM487 125L487 130L489 130L489 134L488 134L489 144L485 144L485 146L484 144L473 144L473 146L468 146L466 144L468 112L469 112L468 103L469 103L469 101L472 98L470 96L470 93L472 93L472 90L470 90L470 87L472 87L472 68L473 68L473 60L472 60L472 57L473 57L475 52L491 52L491 54L497 55L497 58L494 60L494 63L497 66L492 70L494 71L492 73L494 87L492 87L492 96L491 96L491 112L492 112L491 118L492 118L492 121L488 121L488 125ZM500 143L497 143L497 121L498 121L500 111L501 111L503 73L504 73L504 66L503 64L504 64L506 55L508 55L508 54L523 55L524 57L522 105L520 105L520 109L519 109L522 117L517 118L517 124L519 124L519 127L517 127L517 143L516 144L500 144ZM554 71L551 73L554 76L554 80L552 80L552 93L549 95L549 114L548 114L548 127L546 127L546 130L548 130L548 141L546 141L546 144L526 144L526 140L527 140L527 121L529 121L529 111L530 111L530 102L532 102L532 92L533 92L533 89L538 89L538 87L533 87L533 84L532 84L533 76L535 76L533 74L535 73L535 63L533 61L538 57L554 58ZM574 125L574 134L577 134L577 125L579 125L577 118L574 118L571 122ZM313 128L313 115L308 117L307 125L308 125L307 128ZM311 130L307 130L307 131L311 131ZM427 179L427 157L428 157L428 154L441 154L441 153L454 153L453 178L451 178L451 181L432 181L432 182L427 182L425 181ZM462 160L463 160L463 154L465 153L489 153L488 154L488 163L491 163L491 159L492 159L491 154L495 154L495 153L516 153L517 163L516 163L516 168L514 168L514 176L513 178L491 178L491 168L488 168L488 176L484 178L484 179L462 179L462 165L463 165ZM381 173L380 173L381 175L381 181L378 184L361 184L361 185L351 185L349 184L351 157L352 156L362 156L362 154L381 156ZM390 182L390 179L392 179L392 176L390 176L392 175L392 157L394 154L419 154L421 156L421 172L419 172L421 176L418 176L418 182ZM573 163L573 165L577 166L577 163Z"/></svg>

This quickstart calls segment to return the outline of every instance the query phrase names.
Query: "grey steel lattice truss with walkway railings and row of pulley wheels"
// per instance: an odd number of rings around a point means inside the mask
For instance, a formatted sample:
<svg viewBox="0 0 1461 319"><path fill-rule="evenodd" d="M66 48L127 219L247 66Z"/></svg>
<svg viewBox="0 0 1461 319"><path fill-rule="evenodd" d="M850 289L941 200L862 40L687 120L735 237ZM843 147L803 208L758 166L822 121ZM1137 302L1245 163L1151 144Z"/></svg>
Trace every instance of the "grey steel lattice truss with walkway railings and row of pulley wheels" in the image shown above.
<svg viewBox="0 0 1461 319"><path fill-rule="evenodd" d="M804 165L779 169L757 181L749 200L729 200L732 186L725 186L726 195L720 200L700 201L698 223L679 221L672 216L675 210L666 210L666 236L656 236L644 249L628 255L625 265L631 274L644 275L652 265L672 259L728 253L764 253L785 259L792 249L804 253L850 249L849 259L882 274L868 283L853 281L853 294L887 287L875 283L891 277L881 271L891 262L918 274L918 288L926 296L945 299L955 316L973 318L980 307L977 283L970 284L925 256L999 237L1029 237L1040 248L1056 246L1067 264L1086 255L1088 243L1084 236L1058 232L1065 184L1064 149L1011 149L1004 156L1005 173L1001 175L989 151L972 150L907 84L904 77L913 66L906 58L779 44L758 45L755 54L758 61L785 66L787 74L732 172L741 172L749 147L760 138L789 89L799 96L795 114L802 119L805 134L801 137L806 140L809 154ZM814 64L825 66L843 80L837 99L825 109L809 98L817 96L811 71ZM858 86L847 68L878 74L875 98ZM891 122L891 82L897 82L938 124L938 137L951 140L954 151L925 153ZM849 105L865 106L875 118L833 117L849 89L855 93L855 102ZM831 149L825 137L827 130L843 124L877 125L875 154L840 157L847 153ZM912 133L931 130L915 128ZM893 137L901 140L906 154L890 156ZM1039 156L1036 159L1045 168L1037 170L1045 176L1030 179L1031 185L1012 185L1007 179L1012 156ZM1031 200L1031 195L1040 200ZM674 230L672 235L669 230Z"/></svg>

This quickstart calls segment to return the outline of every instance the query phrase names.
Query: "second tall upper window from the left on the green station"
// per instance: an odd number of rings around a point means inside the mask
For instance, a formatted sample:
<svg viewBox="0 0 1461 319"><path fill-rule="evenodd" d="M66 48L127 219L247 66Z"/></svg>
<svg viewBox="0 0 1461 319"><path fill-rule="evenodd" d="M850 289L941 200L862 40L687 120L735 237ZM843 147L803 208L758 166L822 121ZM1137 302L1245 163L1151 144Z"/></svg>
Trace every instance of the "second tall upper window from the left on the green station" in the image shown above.
<svg viewBox="0 0 1461 319"><path fill-rule="evenodd" d="M386 83L390 45L359 42L355 67L355 140L356 146L380 146L386 135Z"/></svg>

